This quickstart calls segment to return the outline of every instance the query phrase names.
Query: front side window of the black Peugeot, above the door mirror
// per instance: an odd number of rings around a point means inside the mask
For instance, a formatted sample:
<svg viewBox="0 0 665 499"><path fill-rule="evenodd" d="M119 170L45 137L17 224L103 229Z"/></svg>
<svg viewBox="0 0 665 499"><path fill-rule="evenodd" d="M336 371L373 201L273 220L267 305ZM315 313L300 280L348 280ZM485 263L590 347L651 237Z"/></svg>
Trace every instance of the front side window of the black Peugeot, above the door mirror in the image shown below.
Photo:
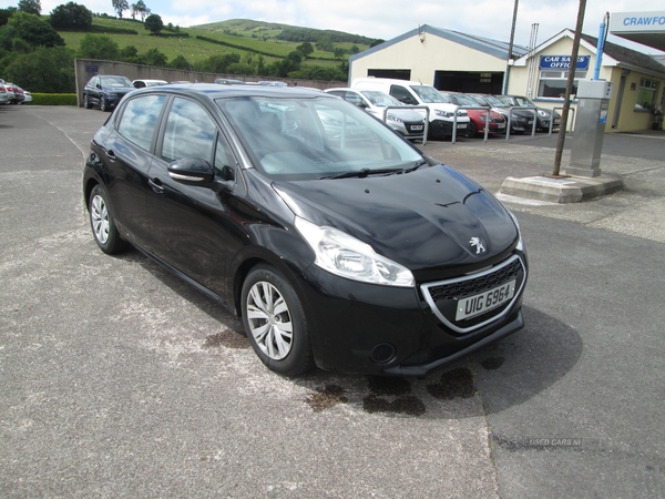
<svg viewBox="0 0 665 499"><path fill-rule="evenodd" d="M215 122L201 105L176 98L166 121L162 157L170 163L183 157L212 163L216 132Z"/></svg>

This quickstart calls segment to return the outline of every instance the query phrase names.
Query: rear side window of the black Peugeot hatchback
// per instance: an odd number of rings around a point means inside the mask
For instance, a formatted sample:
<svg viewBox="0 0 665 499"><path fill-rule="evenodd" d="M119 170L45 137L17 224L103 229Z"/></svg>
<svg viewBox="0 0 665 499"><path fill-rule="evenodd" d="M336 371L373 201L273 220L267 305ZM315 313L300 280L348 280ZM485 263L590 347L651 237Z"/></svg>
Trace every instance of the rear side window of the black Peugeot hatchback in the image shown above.
<svg viewBox="0 0 665 499"><path fill-rule="evenodd" d="M150 152L165 101L165 95L145 95L132 99L126 103L120 118L117 132L127 141Z"/></svg>

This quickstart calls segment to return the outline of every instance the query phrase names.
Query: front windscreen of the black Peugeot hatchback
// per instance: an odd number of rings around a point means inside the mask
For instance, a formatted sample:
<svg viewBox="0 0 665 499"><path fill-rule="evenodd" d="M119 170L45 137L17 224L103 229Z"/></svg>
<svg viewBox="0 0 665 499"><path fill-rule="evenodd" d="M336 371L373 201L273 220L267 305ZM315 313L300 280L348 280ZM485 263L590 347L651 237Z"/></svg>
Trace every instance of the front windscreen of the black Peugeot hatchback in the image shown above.
<svg viewBox="0 0 665 499"><path fill-rule="evenodd" d="M269 177L389 174L422 162L411 144L341 99L229 98L217 105Z"/></svg>

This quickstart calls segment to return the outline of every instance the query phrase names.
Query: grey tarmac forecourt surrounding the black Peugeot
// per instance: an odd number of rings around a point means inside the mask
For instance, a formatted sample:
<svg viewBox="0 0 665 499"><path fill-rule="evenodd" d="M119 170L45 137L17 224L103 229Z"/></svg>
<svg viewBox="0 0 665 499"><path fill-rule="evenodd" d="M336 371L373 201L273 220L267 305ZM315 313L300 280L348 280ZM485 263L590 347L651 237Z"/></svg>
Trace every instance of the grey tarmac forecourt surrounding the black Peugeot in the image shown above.
<svg viewBox="0 0 665 499"><path fill-rule="evenodd" d="M530 257L521 332L424 379L288 379L215 303L99 251L81 174L106 118L0 108L0 496L665 497L662 133L606 135L611 196L499 194ZM555 142L423 150L499 193Z"/></svg>

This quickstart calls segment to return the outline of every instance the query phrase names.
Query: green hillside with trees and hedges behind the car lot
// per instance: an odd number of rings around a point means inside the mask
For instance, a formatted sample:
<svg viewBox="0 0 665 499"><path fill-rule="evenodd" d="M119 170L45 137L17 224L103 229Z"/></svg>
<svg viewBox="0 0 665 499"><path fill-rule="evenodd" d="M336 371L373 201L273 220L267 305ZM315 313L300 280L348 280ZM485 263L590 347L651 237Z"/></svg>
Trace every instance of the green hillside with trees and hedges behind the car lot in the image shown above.
<svg viewBox="0 0 665 499"><path fill-rule="evenodd" d="M141 21L88 10L82 14L85 22L79 24L63 22L55 11L53 16L58 27L85 28L55 31L51 16L0 9L2 78L40 93L71 93L74 58L83 58L213 74L345 82L348 58L376 42L341 31L243 19L191 28L168 24L154 34Z"/></svg>

